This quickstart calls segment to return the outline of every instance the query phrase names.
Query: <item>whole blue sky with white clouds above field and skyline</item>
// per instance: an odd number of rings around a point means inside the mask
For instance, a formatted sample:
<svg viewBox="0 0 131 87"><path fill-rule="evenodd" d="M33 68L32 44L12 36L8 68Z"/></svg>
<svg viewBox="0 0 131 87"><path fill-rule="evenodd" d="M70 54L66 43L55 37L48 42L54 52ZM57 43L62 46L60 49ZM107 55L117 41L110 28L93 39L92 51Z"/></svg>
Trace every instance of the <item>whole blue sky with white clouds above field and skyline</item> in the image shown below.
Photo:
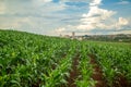
<svg viewBox="0 0 131 87"><path fill-rule="evenodd" d="M131 34L131 0L0 0L0 29L48 36Z"/></svg>

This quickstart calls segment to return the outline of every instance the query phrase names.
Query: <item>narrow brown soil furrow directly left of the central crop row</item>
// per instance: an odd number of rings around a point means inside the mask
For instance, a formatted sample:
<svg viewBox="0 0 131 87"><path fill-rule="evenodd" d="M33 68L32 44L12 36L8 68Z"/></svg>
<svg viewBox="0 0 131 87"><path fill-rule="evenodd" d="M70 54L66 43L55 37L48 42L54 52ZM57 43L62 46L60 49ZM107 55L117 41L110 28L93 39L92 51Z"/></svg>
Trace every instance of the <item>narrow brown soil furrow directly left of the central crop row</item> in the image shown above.
<svg viewBox="0 0 131 87"><path fill-rule="evenodd" d="M70 77L68 78L68 86L67 87L76 87L75 79L79 76L79 70L78 66L79 65L79 54L73 59L72 62L72 71L70 72Z"/></svg>

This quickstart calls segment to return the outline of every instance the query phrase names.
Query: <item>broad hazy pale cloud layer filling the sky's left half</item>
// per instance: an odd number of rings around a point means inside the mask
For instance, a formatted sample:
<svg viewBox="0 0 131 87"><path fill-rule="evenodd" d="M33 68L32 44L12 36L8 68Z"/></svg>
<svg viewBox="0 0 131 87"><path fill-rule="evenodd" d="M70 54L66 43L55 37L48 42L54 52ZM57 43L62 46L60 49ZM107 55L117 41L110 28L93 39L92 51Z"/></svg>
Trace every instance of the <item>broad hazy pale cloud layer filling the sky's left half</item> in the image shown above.
<svg viewBox="0 0 131 87"><path fill-rule="evenodd" d="M64 15L57 12L64 9L64 3L53 3L52 0L0 0L0 28L46 34L60 25Z"/></svg>

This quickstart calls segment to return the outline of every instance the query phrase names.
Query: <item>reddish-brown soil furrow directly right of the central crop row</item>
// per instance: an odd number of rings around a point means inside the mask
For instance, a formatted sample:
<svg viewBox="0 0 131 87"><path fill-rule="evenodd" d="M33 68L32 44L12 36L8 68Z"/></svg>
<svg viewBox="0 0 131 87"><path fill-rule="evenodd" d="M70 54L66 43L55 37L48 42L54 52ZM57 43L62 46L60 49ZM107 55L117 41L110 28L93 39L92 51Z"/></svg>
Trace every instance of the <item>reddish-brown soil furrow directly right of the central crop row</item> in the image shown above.
<svg viewBox="0 0 131 87"><path fill-rule="evenodd" d="M93 65L94 73L92 75L92 78L96 80L95 87L108 87L106 80L104 79L102 69L98 66L95 55L88 54L91 58L91 64Z"/></svg>

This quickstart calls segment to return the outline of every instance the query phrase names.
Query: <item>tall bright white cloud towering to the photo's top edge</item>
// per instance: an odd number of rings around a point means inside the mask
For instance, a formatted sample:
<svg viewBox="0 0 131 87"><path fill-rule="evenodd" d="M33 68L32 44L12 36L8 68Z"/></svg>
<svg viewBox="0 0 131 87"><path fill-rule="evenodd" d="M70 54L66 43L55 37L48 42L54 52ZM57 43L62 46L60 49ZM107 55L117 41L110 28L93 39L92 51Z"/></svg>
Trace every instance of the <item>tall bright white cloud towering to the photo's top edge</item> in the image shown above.
<svg viewBox="0 0 131 87"><path fill-rule="evenodd" d="M105 21L108 21L116 12L98 8L100 2L102 0L91 2L90 11L87 14L82 15L83 18L81 18L81 24L78 26L78 29L92 30L96 28L108 28Z"/></svg>

